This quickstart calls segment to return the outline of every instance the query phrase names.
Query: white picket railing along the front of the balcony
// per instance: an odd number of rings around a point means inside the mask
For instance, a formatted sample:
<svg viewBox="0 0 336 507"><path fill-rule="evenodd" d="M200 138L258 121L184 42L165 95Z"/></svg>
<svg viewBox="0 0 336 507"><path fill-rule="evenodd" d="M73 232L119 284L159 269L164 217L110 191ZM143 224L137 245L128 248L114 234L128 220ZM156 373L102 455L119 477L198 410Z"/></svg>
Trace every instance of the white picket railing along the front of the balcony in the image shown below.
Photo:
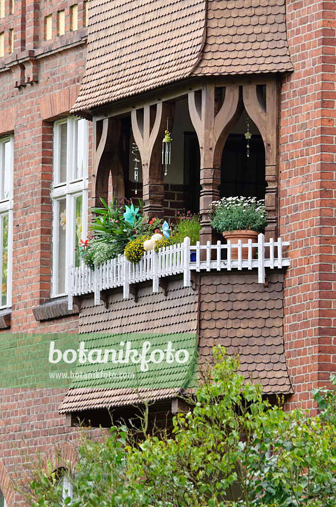
<svg viewBox="0 0 336 507"><path fill-rule="evenodd" d="M283 257L283 247L289 245L288 241L277 241L270 239L265 242L264 234L259 234L258 243L251 239L248 243L238 241L237 245L228 241L226 245L220 241L212 245L210 241L201 245L190 245L190 239L185 238L184 242L178 245L171 245L160 248L156 253L154 250L145 252L144 257L137 264L129 262L124 256L107 261L99 268L92 270L82 265L79 268L69 266L68 271L68 308L72 310L72 297L82 294L95 294L95 305L100 304L100 291L114 287L123 287L123 297L130 296L130 284L145 280L153 281L153 292L159 290L159 278L183 273L184 286L189 287L190 272L196 270L217 271L232 269L248 270L258 268L258 282L265 282L265 267L274 269L289 266L289 259ZM248 258L242 259L242 248L247 248ZM258 259L253 259L253 247L258 247ZM277 248L277 252L275 250ZM237 250L238 255L232 256ZM204 251L204 253L202 253ZM196 261L191 261L190 252L196 252ZM238 257L232 259L232 257Z"/></svg>

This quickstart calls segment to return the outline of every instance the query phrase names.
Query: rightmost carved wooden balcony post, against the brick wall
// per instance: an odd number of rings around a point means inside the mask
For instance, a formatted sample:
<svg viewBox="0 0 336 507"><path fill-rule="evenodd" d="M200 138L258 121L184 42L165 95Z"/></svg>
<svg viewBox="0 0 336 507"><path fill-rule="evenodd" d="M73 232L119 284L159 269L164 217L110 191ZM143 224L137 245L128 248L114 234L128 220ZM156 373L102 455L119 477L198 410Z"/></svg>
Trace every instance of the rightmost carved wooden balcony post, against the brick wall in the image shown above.
<svg viewBox="0 0 336 507"><path fill-rule="evenodd" d="M276 80L266 83L266 104L255 84L243 85L243 100L247 114L257 125L263 138L266 156L265 206L268 211L266 241L277 237L278 229L278 111L279 93Z"/></svg>

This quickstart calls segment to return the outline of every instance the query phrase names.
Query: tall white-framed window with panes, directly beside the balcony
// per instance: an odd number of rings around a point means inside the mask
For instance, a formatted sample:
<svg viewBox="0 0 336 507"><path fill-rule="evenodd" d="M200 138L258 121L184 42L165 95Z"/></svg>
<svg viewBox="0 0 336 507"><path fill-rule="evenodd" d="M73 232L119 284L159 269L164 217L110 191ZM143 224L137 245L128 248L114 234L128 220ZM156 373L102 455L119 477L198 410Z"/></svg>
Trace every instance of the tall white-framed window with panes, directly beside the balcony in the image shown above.
<svg viewBox="0 0 336 507"><path fill-rule="evenodd" d="M68 265L78 267L87 234L89 123L69 117L54 124L52 296L67 292Z"/></svg>

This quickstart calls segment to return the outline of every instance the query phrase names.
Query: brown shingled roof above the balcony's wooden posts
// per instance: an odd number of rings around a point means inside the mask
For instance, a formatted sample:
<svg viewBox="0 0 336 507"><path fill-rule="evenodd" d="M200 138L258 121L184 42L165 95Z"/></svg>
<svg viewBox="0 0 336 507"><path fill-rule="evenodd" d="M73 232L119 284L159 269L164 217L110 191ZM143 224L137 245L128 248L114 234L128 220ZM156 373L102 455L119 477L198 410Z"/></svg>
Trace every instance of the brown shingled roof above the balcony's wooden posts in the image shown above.
<svg viewBox="0 0 336 507"><path fill-rule="evenodd" d="M72 113L191 76L293 70L285 0L90 0Z"/></svg>

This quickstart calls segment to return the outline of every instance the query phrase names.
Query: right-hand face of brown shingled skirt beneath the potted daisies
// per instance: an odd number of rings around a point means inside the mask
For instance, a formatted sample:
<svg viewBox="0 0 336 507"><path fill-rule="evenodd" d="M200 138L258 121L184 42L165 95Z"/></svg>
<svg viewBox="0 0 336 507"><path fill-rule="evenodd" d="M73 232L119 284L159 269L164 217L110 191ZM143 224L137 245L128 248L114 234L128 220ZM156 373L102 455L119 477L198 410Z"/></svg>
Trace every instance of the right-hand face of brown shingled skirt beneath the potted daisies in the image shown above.
<svg viewBox="0 0 336 507"><path fill-rule="evenodd" d="M239 372L265 394L292 393L283 344L283 273L269 272L268 286L251 273L209 274L200 287L199 356L223 345L239 354Z"/></svg>

